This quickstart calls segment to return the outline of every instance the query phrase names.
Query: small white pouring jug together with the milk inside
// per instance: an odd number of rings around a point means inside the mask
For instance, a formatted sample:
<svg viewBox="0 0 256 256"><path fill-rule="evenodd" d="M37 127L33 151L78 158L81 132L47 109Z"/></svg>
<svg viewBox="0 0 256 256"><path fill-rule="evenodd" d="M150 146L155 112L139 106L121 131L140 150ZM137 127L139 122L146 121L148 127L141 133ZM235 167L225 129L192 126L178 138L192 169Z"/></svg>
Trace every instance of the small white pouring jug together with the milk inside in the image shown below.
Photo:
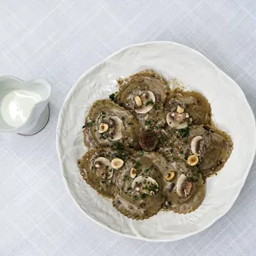
<svg viewBox="0 0 256 256"><path fill-rule="evenodd" d="M24 82L0 76L0 131L33 135L49 120L50 84L43 78Z"/></svg>

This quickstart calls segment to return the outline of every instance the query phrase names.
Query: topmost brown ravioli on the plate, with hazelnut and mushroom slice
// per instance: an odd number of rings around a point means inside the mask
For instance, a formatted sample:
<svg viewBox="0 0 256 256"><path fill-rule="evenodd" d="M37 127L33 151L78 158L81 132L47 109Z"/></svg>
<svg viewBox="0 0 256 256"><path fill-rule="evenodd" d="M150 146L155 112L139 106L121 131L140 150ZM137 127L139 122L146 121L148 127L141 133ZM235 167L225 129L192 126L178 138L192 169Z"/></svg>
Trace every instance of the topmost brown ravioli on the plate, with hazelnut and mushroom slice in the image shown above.
<svg viewBox="0 0 256 256"><path fill-rule="evenodd" d="M140 125L148 130L164 124L167 88L167 83L158 73L153 70L141 71L120 84L116 102L131 111Z"/></svg>

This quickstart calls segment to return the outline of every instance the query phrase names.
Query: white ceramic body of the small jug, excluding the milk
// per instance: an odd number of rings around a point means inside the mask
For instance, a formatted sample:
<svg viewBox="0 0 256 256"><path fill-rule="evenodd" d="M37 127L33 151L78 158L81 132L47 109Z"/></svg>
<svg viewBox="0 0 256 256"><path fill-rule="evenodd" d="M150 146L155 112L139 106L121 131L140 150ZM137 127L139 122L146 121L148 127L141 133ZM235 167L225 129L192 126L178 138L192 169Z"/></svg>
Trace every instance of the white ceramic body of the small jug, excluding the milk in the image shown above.
<svg viewBox="0 0 256 256"><path fill-rule="evenodd" d="M40 99L31 107L26 121L21 123L21 126L16 127L10 126L2 115L2 112L5 111L3 100L5 101L7 95L13 92L33 93L33 95L37 95ZM21 135L33 135L42 130L49 120L48 102L50 94L50 84L43 78L36 78L24 82L11 76L0 76L0 131L18 133Z"/></svg>

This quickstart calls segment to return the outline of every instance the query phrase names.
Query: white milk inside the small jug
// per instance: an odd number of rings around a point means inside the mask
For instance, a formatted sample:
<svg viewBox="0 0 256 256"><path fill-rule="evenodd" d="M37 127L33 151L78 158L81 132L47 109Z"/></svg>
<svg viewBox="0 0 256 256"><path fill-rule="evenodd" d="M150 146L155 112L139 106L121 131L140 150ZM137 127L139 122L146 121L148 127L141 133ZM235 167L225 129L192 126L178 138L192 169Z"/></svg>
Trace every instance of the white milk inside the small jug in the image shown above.
<svg viewBox="0 0 256 256"><path fill-rule="evenodd" d="M32 108L42 97L36 92L13 90L8 92L0 105L2 120L7 125L17 128L22 126L31 115Z"/></svg>

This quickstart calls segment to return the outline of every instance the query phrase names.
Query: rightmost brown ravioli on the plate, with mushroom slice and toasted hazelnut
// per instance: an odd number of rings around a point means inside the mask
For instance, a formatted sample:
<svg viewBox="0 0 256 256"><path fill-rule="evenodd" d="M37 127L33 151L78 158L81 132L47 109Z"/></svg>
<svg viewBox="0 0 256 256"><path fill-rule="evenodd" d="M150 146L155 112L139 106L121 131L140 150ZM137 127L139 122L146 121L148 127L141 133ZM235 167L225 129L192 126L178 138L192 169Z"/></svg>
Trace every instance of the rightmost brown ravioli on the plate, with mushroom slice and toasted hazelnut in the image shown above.
<svg viewBox="0 0 256 256"><path fill-rule="evenodd" d="M186 160L188 165L197 166L204 177L209 177L224 166L233 144L223 131L211 126L192 126L186 136L173 140L172 149L170 156Z"/></svg>

